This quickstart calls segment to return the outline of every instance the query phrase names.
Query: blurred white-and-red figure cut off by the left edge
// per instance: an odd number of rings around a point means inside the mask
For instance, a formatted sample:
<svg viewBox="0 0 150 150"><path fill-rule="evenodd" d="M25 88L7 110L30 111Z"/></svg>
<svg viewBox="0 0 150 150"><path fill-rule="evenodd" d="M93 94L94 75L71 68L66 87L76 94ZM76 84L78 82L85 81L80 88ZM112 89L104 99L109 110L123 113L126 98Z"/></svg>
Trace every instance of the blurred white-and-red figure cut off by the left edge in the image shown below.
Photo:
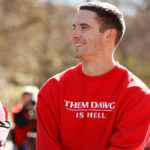
<svg viewBox="0 0 150 150"><path fill-rule="evenodd" d="M5 149L5 142L9 133L10 123L8 122L8 112L6 107L0 102L0 150Z"/></svg>

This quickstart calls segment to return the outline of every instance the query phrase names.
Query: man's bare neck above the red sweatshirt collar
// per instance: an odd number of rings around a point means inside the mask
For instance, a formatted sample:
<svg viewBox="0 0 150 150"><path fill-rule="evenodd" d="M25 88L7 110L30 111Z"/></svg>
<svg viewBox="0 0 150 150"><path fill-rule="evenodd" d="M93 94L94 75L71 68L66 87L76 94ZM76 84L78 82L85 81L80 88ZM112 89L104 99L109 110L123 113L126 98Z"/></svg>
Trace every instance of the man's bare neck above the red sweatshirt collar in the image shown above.
<svg viewBox="0 0 150 150"><path fill-rule="evenodd" d="M82 72L88 76L100 76L109 72L115 66L113 57L111 59L101 58L98 61L82 62Z"/></svg>

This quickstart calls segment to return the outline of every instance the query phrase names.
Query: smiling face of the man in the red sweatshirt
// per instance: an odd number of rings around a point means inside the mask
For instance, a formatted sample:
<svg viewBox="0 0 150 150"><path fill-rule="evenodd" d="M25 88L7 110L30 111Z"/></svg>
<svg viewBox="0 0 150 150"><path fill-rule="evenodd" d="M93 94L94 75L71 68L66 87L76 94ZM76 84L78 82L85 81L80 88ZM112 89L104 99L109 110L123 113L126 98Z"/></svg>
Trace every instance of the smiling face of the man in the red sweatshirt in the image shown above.
<svg viewBox="0 0 150 150"><path fill-rule="evenodd" d="M72 25L75 56L85 61L98 58L103 51L104 34L99 32L100 24L95 17L95 12L80 10Z"/></svg>

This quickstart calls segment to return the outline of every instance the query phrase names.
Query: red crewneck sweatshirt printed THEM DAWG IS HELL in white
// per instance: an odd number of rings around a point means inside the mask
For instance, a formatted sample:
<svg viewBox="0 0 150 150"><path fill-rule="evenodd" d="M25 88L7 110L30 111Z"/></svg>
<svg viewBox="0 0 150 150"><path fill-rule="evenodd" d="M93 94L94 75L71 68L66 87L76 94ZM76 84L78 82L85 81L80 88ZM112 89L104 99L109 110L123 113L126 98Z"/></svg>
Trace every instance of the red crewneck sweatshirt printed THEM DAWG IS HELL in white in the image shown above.
<svg viewBox="0 0 150 150"><path fill-rule="evenodd" d="M81 64L50 78L37 103L37 150L142 150L150 92L118 63L89 77Z"/></svg>

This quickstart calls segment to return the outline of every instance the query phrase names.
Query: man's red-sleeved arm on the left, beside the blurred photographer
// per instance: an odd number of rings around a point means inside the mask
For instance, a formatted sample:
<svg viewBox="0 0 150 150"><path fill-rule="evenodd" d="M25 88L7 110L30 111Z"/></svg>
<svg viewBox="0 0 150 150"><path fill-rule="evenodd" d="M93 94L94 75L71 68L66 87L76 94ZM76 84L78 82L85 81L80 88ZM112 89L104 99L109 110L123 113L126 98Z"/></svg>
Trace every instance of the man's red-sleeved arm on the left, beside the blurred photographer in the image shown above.
<svg viewBox="0 0 150 150"><path fill-rule="evenodd" d="M59 137L59 96L56 81L48 81L37 102L37 150L61 150Z"/></svg>

